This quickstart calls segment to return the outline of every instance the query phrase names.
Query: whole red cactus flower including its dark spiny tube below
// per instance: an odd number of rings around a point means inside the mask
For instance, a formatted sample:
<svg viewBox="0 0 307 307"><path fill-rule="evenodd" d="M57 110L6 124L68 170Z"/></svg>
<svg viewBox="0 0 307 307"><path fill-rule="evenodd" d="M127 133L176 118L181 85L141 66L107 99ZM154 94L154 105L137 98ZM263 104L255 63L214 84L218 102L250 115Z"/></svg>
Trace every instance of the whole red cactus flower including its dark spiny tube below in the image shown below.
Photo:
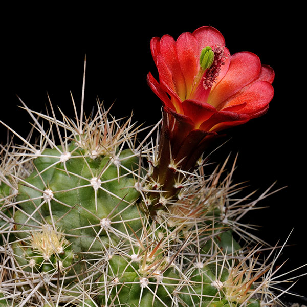
<svg viewBox="0 0 307 307"><path fill-rule="evenodd" d="M264 114L273 98L274 71L251 52L232 56L222 34L204 26L175 41L150 42L159 72L147 81L163 103L158 159L152 171L152 210L173 200L217 132ZM179 185L180 186L180 185ZM158 196L157 196L158 195Z"/></svg>

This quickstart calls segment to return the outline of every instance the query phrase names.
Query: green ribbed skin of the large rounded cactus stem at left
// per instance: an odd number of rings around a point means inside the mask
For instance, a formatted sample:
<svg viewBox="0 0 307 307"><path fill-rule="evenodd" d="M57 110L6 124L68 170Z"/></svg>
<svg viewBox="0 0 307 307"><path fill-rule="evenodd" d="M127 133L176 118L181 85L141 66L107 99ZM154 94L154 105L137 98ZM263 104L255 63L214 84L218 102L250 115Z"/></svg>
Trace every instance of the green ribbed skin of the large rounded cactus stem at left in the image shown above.
<svg viewBox="0 0 307 307"><path fill-rule="evenodd" d="M129 188L134 186L134 179L126 170L132 172L138 159L129 149L123 150L118 161L126 169L120 167L117 172L110 157L92 159L85 156L84 150L76 148L75 144L70 146L73 153L65 163L59 161L56 149L46 149L33 161L31 175L19 184L16 202L20 210L15 213L14 220L18 238L28 243L24 245L29 246L29 233L39 231L40 225L48 224L65 236L61 253L53 251L53 257L45 256L45 261L33 243L25 250L26 257L20 251L23 241L16 243L15 253L26 270L33 268L33 265L27 266L31 259L35 259L38 270L49 272L52 266L56 268L57 260L62 262L63 268L69 267L73 258L91 258L93 253L115 245L118 238L113 234L107 236L100 225L104 219L119 222L114 224L118 231L125 231L120 216L123 220L133 220L129 225L134 231L141 228L136 206L126 208L126 203L133 203L139 197L134 188ZM98 185L91 185L91 180L100 173ZM115 215L118 216L113 218Z"/></svg>

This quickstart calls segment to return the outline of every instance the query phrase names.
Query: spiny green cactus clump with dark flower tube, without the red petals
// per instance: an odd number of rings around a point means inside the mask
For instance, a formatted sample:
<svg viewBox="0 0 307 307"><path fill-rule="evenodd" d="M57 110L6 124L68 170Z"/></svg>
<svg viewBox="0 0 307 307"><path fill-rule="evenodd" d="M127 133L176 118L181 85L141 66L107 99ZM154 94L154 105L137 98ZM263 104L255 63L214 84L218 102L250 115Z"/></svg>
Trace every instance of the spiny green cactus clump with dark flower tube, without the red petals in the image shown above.
<svg viewBox="0 0 307 307"><path fill-rule="evenodd" d="M206 71L217 51L203 50ZM84 118L73 101L75 121L21 103L34 129L24 138L8 127L23 144L1 147L0 306L278 303L275 249L260 259L266 244L239 222L271 187L237 198L236 159L226 173L229 157L212 169L202 156L217 130L191 128L169 108L162 127L143 128L99 102Z"/></svg>

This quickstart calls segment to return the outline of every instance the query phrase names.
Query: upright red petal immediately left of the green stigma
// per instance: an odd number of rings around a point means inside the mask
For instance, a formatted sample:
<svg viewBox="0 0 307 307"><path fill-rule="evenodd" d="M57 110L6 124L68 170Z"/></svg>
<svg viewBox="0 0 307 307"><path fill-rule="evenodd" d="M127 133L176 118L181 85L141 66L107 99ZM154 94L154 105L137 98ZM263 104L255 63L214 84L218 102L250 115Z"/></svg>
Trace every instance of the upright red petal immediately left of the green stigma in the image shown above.
<svg viewBox="0 0 307 307"><path fill-rule="evenodd" d="M177 39L176 48L181 71L185 79L186 97L189 97L194 77L199 70L198 43L191 33L186 32L181 34Z"/></svg>

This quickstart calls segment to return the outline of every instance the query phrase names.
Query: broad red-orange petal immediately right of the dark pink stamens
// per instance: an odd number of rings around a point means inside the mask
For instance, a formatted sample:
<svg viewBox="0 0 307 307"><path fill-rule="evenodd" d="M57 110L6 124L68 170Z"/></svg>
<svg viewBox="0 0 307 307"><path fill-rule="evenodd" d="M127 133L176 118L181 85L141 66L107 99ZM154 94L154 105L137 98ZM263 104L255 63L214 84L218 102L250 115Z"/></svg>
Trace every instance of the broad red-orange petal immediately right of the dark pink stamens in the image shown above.
<svg viewBox="0 0 307 307"><path fill-rule="evenodd" d="M223 108L224 101L258 78L260 70L261 63L255 54L239 52L232 55L227 74L211 91L208 103L217 109Z"/></svg>

